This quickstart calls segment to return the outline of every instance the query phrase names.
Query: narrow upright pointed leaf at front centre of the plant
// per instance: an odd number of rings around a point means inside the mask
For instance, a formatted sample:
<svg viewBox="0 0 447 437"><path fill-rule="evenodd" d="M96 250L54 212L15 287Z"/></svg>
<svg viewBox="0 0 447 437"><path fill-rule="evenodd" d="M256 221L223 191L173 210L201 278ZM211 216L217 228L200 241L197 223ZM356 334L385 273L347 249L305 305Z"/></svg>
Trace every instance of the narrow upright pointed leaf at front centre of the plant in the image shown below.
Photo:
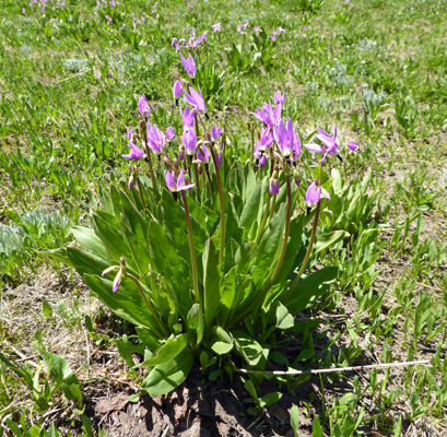
<svg viewBox="0 0 447 437"><path fill-rule="evenodd" d="M211 238L203 250L203 315L204 330L210 332L221 303L219 258Z"/></svg>

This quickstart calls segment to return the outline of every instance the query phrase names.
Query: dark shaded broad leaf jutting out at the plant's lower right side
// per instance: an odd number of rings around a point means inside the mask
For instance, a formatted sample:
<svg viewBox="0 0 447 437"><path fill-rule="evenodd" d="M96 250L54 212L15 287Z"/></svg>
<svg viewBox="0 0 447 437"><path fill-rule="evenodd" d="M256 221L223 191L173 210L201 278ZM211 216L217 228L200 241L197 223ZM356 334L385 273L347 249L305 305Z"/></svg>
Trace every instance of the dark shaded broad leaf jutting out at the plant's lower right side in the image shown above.
<svg viewBox="0 0 447 437"><path fill-rule="evenodd" d="M284 302L289 311L295 315L303 311L311 298L317 298L330 287L330 284L337 277L337 267L326 267L308 276L304 277L303 275L287 300Z"/></svg>

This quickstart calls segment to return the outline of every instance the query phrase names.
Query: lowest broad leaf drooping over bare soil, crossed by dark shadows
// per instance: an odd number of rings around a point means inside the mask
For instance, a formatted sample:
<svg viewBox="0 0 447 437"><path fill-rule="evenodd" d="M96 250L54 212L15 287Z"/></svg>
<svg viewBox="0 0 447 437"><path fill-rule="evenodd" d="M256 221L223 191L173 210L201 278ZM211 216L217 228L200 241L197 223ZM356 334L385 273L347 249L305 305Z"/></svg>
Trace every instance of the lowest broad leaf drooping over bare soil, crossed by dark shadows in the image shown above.
<svg viewBox="0 0 447 437"><path fill-rule="evenodd" d="M163 395L177 388L188 376L193 363L190 350L184 350L175 358L155 366L142 382L149 395Z"/></svg>

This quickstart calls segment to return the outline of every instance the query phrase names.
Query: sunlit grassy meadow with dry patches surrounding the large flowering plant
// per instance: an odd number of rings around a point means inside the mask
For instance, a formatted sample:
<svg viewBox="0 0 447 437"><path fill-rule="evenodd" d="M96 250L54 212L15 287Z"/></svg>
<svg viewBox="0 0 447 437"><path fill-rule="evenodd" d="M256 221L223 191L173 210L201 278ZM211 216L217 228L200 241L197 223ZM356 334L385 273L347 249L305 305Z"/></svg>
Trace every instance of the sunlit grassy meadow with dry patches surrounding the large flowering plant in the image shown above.
<svg viewBox="0 0 447 437"><path fill-rule="evenodd" d="M45 13L39 4L11 0L0 9L1 353L20 366L31 363L32 375L40 369L33 378L43 392L45 381L56 387L54 376L39 367L38 349L31 346L40 331L46 347L77 374L84 398L107 380L94 362L109 355L117 363L114 339L130 328L92 303L82 281L45 250L71 244L68 226L85 222L102 187L126 178L120 155L139 95L148 96L153 120L164 129L179 123L172 116L172 84L181 64L172 39L207 32L196 55L198 83L210 96L211 115L226 123L231 155L249 156L249 113L282 88L284 116L292 117L305 142L317 126L330 129L337 122L343 140L361 145L362 154L345 163L353 186L372 170L366 192L377 198L364 215L348 222L325 217L328 227L337 223L351 232L350 241L318 261L340 268L337 286L313 314L322 318L328 338L338 339L326 365L423 358L432 364L348 380L325 377L319 394L299 403L302 416L314 423L319 416L331 436L445 435L444 1L254 0L242 7L231 0L190 8L168 0L155 3L154 13L138 0L115 8L57 3L48 1ZM145 21L134 25L132 19L143 12ZM263 32L238 34L244 20ZM215 22L221 33L212 32ZM273 42L279 26L285 33ZM351 203L346 194L343 211ZM42 414L33 387L22 385L4 362L0 366L3 433L23 414L22 430L32 423L48 427L60 409L68 409L64 429L89 435L62 390ZM340 379L343 394L333 389ZM296 390L295 382L287 385Z"/></svg>

